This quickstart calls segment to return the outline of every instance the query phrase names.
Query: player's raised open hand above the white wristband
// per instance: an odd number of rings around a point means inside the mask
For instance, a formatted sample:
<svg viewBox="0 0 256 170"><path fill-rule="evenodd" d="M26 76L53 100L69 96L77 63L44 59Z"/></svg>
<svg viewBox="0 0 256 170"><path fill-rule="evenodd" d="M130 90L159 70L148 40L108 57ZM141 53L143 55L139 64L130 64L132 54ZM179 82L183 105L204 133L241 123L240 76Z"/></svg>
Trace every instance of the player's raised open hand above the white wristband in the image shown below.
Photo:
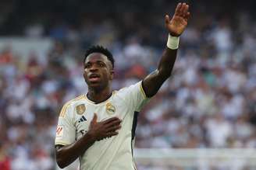
<svg viewBox="0 0 256 170"><path fill-rule="evenodd" d="M168 15L165 15L165 27L172 36L180 36L187 27L189 17L189 5L179 3L176 6L172 19L170 19Z"/></svg>

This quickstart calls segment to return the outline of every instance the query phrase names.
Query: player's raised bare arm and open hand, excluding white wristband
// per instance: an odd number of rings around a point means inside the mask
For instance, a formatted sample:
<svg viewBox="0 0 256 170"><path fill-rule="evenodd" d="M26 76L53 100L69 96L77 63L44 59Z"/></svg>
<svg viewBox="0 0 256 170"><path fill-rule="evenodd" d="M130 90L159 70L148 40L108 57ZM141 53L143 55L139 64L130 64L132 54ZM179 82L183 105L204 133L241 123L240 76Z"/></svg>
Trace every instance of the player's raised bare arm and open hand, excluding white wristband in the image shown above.
<svg viewBox="0 0 256 170"><path fill-rule="evenodd" d="M188 12L189 5L186 3L179 3L172 19L165 16L165 27L168 29L171 36L180 36L187 27L187 20L190 17ZM158 64L158 68L150 75L144 78L142 86L144 92L148 97L155 95L162 84L172 74L172 68L176 61L177 49L170 49L166 47L162 54L162 58Z"/></svg>

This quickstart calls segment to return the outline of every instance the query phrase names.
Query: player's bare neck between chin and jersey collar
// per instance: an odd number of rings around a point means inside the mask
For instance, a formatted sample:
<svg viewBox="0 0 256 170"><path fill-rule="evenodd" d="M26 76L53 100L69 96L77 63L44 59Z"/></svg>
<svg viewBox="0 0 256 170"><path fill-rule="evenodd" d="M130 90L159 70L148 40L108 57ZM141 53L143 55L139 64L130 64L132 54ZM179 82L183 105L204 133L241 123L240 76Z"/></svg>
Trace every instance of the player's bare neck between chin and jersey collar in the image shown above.
<svg viewBox="0 0 256 170"><path fill-rule="evenodd" d="M106 101L111 95L112 89L109 86L101 90L89 87L87 98L97 104Z"/></svg>

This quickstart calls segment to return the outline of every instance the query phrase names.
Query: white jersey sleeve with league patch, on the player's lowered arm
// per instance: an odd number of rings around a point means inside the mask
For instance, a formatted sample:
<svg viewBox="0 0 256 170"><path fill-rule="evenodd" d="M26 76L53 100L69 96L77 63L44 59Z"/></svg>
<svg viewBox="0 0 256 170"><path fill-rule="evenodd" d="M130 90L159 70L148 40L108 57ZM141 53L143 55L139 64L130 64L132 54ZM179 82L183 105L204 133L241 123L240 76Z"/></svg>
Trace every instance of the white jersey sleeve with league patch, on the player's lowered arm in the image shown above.
<svg viewBox="0 0 256 170"><path fill-rule="evenodd" d="M66 104L62 107L55 134L55 145L72 144L76 141L76 128L73 124L72 113L70 104Z"/></svg>

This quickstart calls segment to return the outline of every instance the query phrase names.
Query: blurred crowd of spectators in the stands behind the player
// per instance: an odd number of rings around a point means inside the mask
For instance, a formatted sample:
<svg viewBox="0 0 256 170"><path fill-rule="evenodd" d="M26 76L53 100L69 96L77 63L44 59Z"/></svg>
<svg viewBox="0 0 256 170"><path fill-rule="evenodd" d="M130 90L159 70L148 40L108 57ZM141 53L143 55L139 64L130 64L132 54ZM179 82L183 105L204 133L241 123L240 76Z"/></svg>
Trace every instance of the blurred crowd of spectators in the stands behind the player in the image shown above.
<svg viewBox="0 0 256 170"><path fill-rule="evenodd" d="M163 16L174 5L155 6L163 11L142 16L135 8L107 19L88 12L80 24L58 17L47 26L32 20L22 36L55 42L43 60L31 52L22 61L12 47L0 51L0 169L54 169L59 111L87 92L87 47L101 44L112 51L113 89L155 70L168 36ZM139 115L136 147L256 147L255 20L250 12L219 16L197 7L171 78Z"/></svg>

